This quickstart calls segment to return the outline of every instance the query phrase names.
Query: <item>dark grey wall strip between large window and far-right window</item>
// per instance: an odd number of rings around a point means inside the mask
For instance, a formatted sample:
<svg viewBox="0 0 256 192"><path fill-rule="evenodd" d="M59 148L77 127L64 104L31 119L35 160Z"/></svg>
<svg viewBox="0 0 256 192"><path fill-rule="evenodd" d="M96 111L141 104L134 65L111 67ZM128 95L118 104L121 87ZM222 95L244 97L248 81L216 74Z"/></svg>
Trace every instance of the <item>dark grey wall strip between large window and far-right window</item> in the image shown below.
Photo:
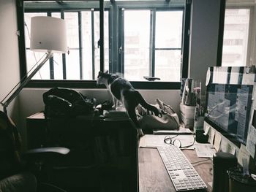
<svg viewBox="0 0 256 192"><path fill-rule="evenodd" d="M202 82L205 94L208 66L217 65L220 0L192 0L189 77Z"/></svg>

